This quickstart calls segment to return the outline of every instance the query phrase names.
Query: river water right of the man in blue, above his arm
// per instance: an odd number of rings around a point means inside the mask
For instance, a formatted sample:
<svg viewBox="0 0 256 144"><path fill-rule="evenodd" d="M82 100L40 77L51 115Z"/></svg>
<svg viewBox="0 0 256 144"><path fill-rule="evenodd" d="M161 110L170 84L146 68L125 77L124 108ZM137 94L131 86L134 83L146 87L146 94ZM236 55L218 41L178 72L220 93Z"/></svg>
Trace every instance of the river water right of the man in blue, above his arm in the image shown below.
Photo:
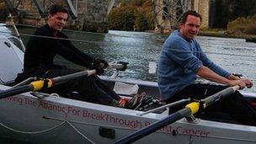
<svg viewBox="0 0 256 144"><path fill-rule="evenodd" d="M229 72L241 73L256 81L256 44L243 39L227 39L199 36L198 40L203 50L216 64ZM254 86L255 89L255 86Z"/></svg>

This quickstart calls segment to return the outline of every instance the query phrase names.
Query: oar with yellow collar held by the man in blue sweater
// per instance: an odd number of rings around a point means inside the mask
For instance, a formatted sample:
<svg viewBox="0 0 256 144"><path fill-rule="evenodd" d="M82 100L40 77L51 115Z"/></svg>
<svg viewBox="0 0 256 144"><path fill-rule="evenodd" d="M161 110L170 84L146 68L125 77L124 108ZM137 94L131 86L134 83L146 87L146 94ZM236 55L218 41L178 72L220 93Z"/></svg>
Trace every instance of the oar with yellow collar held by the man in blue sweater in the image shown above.
<svg viewBox="0 0 256 144"><path fill-rule="evenodd" d="M158 120L152 123L152 125L148 125L146 127L141 128L140 130L134 131L130 135L125 136L118 141L115 141L114 144L126 144L131 143L133 141L137 141L142 137L147 136L152 132L161 129L165 125L170 125L173 122L180 120L186 116L195 114L200 109L200 103L203 104L202 107L205 109L205 107L213 104L217 100L225 98L229 94L234 93L237 89L239 89L239 86L229 87L222 90L219 93L215 93L205 99L202 99L201 102L192 102L190 104L187 104L184 109L180 109L172 115L168 115L166 118L163 118L162 120Z"/></svg>

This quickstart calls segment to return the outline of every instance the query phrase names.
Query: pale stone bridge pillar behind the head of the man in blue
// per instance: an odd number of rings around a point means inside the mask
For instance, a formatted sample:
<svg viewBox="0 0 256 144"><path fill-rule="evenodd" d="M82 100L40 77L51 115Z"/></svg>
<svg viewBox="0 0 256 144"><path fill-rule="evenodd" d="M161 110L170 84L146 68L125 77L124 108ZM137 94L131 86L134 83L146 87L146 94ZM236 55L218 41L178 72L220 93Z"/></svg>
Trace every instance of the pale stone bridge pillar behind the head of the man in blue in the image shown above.
<svg viewBox="0 0 256 144"><path fill-rule="evenodd" d="M216 0L152 0L156 14L157 33L170 33L178 28L181 13L195 9L202 15L201 28L209 28L214 18Z"/></svg>

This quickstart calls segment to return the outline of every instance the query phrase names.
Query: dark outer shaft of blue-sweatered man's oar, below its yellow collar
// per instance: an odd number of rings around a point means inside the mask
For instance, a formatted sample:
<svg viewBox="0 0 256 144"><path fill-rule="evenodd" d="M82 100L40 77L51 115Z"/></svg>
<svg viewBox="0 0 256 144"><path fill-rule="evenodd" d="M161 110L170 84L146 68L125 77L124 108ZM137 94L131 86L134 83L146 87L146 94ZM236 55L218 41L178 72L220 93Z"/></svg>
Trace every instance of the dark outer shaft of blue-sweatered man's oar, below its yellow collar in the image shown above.
<svg viewBox="0 0 256 144"><path fill-rule="evenodd" d="M163 120L158 120L152 123L152 125L143 127L142 129L135 131L134 133L131 133L130 135L125 136L118 141L115 141L114 144L128 144L133 141L137 141L142 137L147 136L152 132L159 130L159 128L162 128L163 126L172 124L173 122L184 118L185 115L188 115L190 113L191 112L189 108L181 109L173 113L172 115L168 115L166 118L163 118Z"/></svg>

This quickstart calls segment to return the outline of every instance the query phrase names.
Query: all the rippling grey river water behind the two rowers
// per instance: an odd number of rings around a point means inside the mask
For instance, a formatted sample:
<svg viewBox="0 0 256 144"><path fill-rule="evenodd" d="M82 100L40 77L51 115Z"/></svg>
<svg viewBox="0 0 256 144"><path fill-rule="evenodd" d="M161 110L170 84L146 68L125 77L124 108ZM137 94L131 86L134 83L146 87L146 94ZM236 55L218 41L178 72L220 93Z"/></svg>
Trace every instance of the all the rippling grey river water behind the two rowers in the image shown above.
<svg viewBox="0 0 256 144"><path fill-rule="evenodd" d="M35 29L19 29L24 43ZM109 34L93 34L84 32L65 31L72 43L81 51L91 56L102 57L107 61L126 61L130 64L120 77L157 81L156 74L148 73L148 63L158 61L164 40L168 35L126 32L109 30ZM255 83L256 73L254 62L256 58L256 44L245 42L243 39L216 38L198 36L200 45L216 64L229 72L241 73ZM61 62L76 67L72 63L59 59ZM110 71L105 72L110 75ZM254 86L255 89L255 86Z"/></svg>

